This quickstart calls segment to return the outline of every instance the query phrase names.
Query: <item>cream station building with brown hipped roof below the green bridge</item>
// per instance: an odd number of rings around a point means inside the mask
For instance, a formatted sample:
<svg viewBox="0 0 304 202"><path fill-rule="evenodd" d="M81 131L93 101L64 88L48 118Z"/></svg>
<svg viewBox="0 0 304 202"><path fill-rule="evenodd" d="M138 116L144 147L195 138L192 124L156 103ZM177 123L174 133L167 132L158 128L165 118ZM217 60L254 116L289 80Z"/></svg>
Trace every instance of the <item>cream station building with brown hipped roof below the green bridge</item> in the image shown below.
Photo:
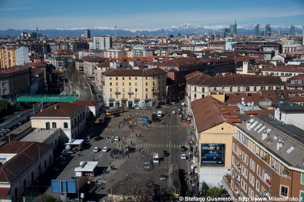
<svg viewBox="0 0 304 202"><path fill-rule="evenodd" d="M51 105L32 117L32 127L45 130L57 130L61 128L68 139L80 137L86 128L86 120L89 117L88 107L73 103L59 102Z"/></svg>

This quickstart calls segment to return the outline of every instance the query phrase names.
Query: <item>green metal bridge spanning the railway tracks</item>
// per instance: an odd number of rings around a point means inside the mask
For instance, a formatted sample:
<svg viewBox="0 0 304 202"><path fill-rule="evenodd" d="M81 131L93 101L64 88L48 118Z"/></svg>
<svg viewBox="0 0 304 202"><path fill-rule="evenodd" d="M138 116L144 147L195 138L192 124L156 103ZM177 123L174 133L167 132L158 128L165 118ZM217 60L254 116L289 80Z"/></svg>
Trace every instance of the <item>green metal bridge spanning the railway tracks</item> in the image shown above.
<svg viewBox="0 0 304 202"><path fill-rule="evenodd" d="M17 106L20 102L74 102L78 98L76 95L17 95Z"/></svg>

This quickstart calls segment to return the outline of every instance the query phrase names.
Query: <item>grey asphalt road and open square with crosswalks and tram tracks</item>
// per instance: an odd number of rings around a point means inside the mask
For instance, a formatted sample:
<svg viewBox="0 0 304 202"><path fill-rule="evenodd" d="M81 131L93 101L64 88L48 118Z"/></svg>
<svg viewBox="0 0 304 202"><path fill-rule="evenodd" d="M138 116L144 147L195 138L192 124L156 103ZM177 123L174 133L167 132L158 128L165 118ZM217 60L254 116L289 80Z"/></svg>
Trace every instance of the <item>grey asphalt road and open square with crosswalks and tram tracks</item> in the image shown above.
<svg viewBox="0 0 304 202"><path fill-rule="evenodd" d="M126 142L133 142L133 148L136 152L131 154L138 155L138 151L143 148L147 148L150 153L158 153L159 160L164 161L164 166L168 169L167 175L170 175L170 166L171 164L177 164L180 169L180 173L183 171L187 174L191 169L191 161L182 160L181 154L186 154L188 156L188 151L181 151L181 146L187 147L187 142L191 138L190 128L186 128L181 124L181 118L178 117L178 108L181 107L181 103L174 104L172 106L163 106L161 109L155 109L155 107L151 107L147 110L130 110L126 111L124 114L116 118L110 118L109 123L104 124L91 124L89 127L89 131L93 132L95 136L102 136L104 139L99 141L93 141L93 138L88 141L88 144L84 147L84 150L81 151L81 156L78 157L77 153L72 154L67 157L67 162L64 164L63 168L60 169L60 174L56 177L56 179L70 179L75 176L74 168L79 167L80 161L93 161L93 157L95 161L98 161L98 176L92 177L94 180L99 180L105 183L101 188L98 188L94 194L90 197L89 201L103 201L102 198L106 198L106 191L110 188L110 180L116 178L115 173L119 169L119 167L123 166L125 161L128 161L128 157L123 158L119 156L117 159L112 159L109 152L93 152L94 147L102 148L104 146L108 146L110 148L116 147L116 143L112 142L110 144L107 139L108 136L119 136L121 132L122 139L126 137ZM144 114L145 116L151 115L153 112L161 110L163 115L161 117L160 122L154 122L149 124L148 127L140 125L139 116ZM177 114L172 114L172 111L176 111ZM164 114L164 111L167 114ZM131 129L127 125L121 125L121 129L119 129L119 122L123 121L124 118L127 118L129 115L138 114L138 117L133 118ZM164 121L164 124L162 124ZM134 126L136 123L136 126ZM132 131L133 129L133 131ZM187 131L188 130L188 131ZM113 131L113 132L112 132ZM136 137L136 133L138 136ZM141 134L141 137L139 137ZM120 142L119 142L120 146ZM163 157L163 151L167 151L169 153L168 157ZM193 154L193 153L192 153ZM117 168L115 171L111 171L109 164L115 165ZM102 170L106 168L109 171L107 174L101 176ZM183 178L183 177L182 177ZM189 189L189 181L188 175L186 175L187 181L181 179L182 185L182 193L185 193L185 190ZM167 178L167 184L169 186L169 179ZM113 184L116 183L115 180L112 181ZM51 188L49 187L46 191L47 194L51 194ZM60 194L54 194L55 197L60 197Z"/></svg>

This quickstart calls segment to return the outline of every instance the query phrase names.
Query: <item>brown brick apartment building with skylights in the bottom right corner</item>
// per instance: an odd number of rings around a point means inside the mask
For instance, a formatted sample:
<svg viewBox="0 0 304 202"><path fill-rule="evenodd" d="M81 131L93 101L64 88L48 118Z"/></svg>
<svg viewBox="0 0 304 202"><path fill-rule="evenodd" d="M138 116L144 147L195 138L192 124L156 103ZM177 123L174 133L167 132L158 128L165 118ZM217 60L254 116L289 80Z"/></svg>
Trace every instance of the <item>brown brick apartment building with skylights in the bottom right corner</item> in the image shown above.
<svg viewBox="0 0 304 202"><path fill-rule="evenodd" d="M291 113L298 120L303 112L300 105L286 104L275 114L281 117L282 113ZM303 201L303 127L297 125L295 121L282 124L269 114L256 115L235 126L238 134L232 140L231 176L223 176L224 187L234 197L264 201L289 201L287 197L295 197Z"/></svg>

